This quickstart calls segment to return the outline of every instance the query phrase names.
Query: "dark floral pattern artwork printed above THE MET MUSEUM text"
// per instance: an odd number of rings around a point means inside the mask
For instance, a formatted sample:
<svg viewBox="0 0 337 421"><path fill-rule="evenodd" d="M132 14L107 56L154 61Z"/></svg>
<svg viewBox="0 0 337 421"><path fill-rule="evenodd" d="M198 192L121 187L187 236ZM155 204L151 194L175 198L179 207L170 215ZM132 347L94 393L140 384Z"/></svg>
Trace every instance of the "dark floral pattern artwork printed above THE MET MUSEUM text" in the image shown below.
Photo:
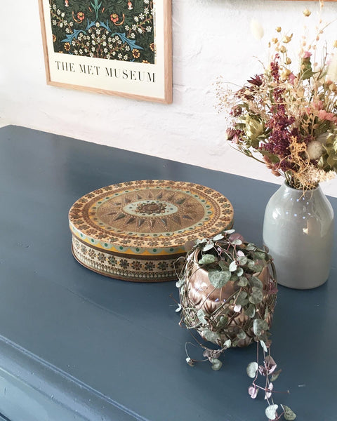
<svg viewBox="0 0 337 421"><path fill-rule="evenodd" d="M155 63L153 0L49 0L55 53Z"/></svg>

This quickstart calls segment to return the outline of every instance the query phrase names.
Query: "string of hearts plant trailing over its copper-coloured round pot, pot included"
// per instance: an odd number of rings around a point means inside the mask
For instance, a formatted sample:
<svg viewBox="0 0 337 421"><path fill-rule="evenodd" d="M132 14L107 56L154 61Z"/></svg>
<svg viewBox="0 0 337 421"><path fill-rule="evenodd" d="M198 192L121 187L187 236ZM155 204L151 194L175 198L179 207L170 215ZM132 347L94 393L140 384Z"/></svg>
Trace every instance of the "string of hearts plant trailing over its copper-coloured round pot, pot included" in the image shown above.
<svg viewBox="0 0 337 421"><path fill-rule="evenodd" d="M264 392L268 420L295 420L296 414L289 406L279 406L274 401L274 382L281 373L270 353L277 281L267 250L244 241L234 229L213 239L198 240L187 253L176 286L180 295L180 326L191 332L197 330L202 339L218 346L208 347L192 334L204 349L202 361L209 361L213 370L219 370L219 357L226 349L256 342L256 361L246 368L252 379L249 395L256 399L259 391ZM187 349L186 353L187 363L194 366L197 360L189 356Z"/></svg>

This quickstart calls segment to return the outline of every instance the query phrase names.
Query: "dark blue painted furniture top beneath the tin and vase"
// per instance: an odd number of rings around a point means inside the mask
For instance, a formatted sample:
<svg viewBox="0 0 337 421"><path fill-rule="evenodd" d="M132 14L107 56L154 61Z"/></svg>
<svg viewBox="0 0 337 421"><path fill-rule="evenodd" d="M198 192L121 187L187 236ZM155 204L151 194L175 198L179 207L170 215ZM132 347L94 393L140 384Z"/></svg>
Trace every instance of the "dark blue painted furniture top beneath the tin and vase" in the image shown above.
<svg viewBox="0 0 337 421"><path fill-rule="evenodd" d="M170 298L178 296L174 282L117 281L72 258L72 203L98 187L148 178L225 194L234 227L261 243L275 185L27 128L0 129L0 413L11 421L265 419L265 402L246 392L255 347L227 352L218 372L207 363L190 368L190 335L178 326ZM324 286L279 288L272 339L283 373L275 386L291 394L277 401L298 420L336 421L336 260L335 241Z"/></svg>

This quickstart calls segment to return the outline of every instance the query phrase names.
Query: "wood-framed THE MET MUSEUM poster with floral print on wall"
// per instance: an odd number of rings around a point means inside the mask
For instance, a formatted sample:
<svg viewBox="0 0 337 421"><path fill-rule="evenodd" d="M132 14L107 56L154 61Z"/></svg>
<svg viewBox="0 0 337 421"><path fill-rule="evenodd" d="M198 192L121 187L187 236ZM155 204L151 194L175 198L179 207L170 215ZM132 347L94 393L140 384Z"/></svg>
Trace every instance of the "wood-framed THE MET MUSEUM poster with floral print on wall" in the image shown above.
<svg viewBox="0 0 337 421"><path fill-rule="evenodd" d="M172 102L171 0L39 0L49 85Z"/></svg>

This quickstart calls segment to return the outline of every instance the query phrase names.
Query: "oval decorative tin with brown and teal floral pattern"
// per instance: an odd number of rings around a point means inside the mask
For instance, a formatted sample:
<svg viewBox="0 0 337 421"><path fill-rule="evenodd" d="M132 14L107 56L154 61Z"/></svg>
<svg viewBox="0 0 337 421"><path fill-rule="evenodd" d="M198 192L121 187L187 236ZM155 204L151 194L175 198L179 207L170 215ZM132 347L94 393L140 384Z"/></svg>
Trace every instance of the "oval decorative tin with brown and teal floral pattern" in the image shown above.
<svg viewBox="0 0 337 421"><path fill-rule="evenodd" d="M166 180L103 187L77 200L69 213L72 253L81 265L140 282L177 279L185 243L214 236L232 221L223 194Z"/></svg>

